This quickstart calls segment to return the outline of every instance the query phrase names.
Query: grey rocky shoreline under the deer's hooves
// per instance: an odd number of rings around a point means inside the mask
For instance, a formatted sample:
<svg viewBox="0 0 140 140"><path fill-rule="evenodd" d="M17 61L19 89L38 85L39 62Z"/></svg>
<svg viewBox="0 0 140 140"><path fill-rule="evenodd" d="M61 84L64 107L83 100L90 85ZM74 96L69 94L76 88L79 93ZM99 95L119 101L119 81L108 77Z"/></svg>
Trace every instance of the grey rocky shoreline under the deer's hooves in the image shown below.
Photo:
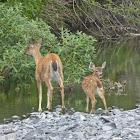
<svg viewBox="0 0 140 140"><path fill-rule="evenodd" d="M33 112L25 119L13 116L12 122L0 125L0 140L139 140L140 107L123 111L109 108L109 116L97 109L95 114L61 113L61 106L53 112Z"/></svg>

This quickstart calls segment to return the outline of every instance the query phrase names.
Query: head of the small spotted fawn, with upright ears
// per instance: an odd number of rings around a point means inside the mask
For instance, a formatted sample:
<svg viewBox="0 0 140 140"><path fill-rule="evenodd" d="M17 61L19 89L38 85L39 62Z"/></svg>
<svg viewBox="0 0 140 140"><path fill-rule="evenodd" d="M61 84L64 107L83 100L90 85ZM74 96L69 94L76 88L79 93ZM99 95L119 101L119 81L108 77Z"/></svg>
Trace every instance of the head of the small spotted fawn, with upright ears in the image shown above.
<svg viewBox="0 0 140 140"><path fill-rule="evenodd" d="M89 65L89 68L93 69L94 70L94 75L96 75L97 77L101 78L102 77L102 69L104 69L106 66L106 61L102 64L101 67L95 67L95 65L90 62L90 65Z"/></svg>

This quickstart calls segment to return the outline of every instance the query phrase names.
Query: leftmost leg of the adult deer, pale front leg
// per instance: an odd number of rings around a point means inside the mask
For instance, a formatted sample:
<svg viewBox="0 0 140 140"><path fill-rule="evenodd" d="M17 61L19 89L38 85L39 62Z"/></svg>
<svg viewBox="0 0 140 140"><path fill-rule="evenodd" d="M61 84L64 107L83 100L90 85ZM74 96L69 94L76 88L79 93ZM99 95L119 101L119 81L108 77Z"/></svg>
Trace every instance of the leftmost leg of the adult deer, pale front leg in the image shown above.
<svg viewBox="0 0 140 140"><path fill-rule="evenodd" d="M38 111L41 112L42 108L41 108L41 102L42 102L42 84L40 81L37 81L37 88L38 88L38 93L39 93L39 107L38 107Z"/></svg>

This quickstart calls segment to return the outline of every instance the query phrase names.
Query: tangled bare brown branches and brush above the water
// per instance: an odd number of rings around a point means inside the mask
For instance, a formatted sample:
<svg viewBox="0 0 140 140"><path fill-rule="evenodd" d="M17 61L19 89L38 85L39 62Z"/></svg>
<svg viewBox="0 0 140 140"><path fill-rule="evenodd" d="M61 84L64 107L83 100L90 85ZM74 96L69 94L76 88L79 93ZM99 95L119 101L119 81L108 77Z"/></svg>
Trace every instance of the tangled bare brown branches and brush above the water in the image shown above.
<svg viewBox="0 0 140 140"><path fill-rule="evenodd" d="M41 17L54 30L63 26L71 31L78 29L100 38L118 38L129 33L139 33L139 15L137 0L50 1L41 12Z"/></svg>

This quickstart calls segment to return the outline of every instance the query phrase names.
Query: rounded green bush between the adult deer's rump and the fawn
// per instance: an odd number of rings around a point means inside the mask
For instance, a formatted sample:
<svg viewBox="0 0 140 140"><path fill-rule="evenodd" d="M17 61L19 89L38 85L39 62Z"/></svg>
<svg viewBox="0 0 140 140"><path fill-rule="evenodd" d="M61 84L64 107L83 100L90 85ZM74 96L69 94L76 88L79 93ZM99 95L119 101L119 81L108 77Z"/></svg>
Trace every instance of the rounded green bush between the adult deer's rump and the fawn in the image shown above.
<svg viewBox="0 0 140 140"><path fill-rule="evenodd" d="M53 50L60 56L65 81L80 82L81 76L89 72L89 63L94 57L95 39L85 33L71 33L69 30L61 29L61 43L56 44Z"/></svg>

